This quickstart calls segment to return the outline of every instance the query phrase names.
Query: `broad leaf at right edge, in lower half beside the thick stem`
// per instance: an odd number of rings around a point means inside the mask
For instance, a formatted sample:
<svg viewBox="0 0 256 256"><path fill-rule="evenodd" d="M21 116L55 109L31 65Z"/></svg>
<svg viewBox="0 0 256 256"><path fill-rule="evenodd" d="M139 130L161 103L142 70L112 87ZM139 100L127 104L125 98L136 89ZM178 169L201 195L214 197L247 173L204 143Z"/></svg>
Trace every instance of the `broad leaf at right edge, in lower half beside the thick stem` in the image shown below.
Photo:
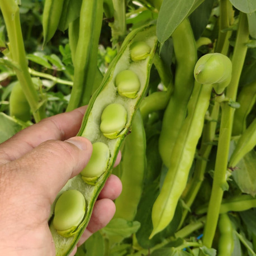
<svg viewBox="0 0 256 256"><path fill-rule="evenodd" d="M238 163L238 169L234 170L233 178L242 192L253 197L256 195L256 152L250 151Z"/></svg>

